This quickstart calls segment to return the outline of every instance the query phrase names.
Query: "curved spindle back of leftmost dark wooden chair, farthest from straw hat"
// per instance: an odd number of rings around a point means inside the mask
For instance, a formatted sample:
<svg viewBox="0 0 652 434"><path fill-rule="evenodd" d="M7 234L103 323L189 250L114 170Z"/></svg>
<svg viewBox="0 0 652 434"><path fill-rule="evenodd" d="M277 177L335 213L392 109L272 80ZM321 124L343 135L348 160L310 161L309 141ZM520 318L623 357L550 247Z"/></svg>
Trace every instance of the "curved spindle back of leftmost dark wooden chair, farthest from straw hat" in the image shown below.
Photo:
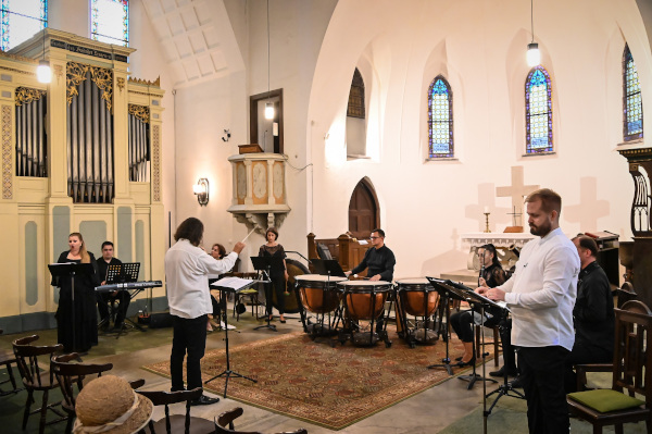
<svg viewBox="0 0 652 434"><path fill-rule="evenodd" d="M52 355L61 349L63 349L63 345L43 345L43 346L33 346L32 343L38 340L38 335L32 335L22 337L20 339L15 339L12 345L14 349L14 356L16 357L16 364L18 367L18 371L21 372L21 377L23 379L23 384L27 388L41 388L49 387L53 383L52 370L50 370L50 381L49 384L43 382L43 376L41 375L41 367L39 365L38 357L48 355L48 360L52 357Z"/></svg>

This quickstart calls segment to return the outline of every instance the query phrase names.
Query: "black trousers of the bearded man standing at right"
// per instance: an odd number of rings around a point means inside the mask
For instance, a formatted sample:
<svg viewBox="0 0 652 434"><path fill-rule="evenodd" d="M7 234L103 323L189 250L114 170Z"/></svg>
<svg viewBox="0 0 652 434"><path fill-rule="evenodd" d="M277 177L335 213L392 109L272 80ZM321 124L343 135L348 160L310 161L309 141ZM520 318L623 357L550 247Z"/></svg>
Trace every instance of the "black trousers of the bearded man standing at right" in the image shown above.
<svg viewBox="0 0 652 434"><path fill-rule="evenodd" d="M550 346L521 347L517 352L530 434L568 433L564 369L570 351Z"/></svg>

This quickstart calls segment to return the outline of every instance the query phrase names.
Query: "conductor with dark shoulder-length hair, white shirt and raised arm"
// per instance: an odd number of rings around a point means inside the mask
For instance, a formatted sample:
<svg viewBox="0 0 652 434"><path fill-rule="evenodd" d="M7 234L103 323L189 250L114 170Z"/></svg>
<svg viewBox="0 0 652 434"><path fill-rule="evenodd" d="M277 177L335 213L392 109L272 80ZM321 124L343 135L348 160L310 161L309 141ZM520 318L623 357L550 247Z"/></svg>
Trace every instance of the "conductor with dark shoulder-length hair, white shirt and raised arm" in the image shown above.
<svg viewBox="0 0 652 434"><path fill-rule="evenodd" d="M188 390L202 387L201 358L206 347L208 314L213 312L209 274L230 270L244 248L237 243L226 258L216 261L199 247L203 238L203 224L199 219L186 219L176 230L176 244L165 253L167 303L173 319L174 335L170 356L172 390L184 389L184 358L188 351ZM202 395L191 401L193 406L217 402L220 398Z"/></svg>

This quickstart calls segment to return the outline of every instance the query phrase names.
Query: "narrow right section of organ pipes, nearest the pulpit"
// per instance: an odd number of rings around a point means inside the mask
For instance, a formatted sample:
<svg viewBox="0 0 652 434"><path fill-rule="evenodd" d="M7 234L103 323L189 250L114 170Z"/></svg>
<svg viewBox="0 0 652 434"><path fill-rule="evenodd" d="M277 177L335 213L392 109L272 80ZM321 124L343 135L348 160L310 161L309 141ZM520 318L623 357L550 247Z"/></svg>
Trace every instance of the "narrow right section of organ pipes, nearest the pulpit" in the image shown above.
<svg viewBox="0 0 652 434"><path fill-rule="evenodd" d="M129 104L129 181L149 182L149 107Z"/></svg>

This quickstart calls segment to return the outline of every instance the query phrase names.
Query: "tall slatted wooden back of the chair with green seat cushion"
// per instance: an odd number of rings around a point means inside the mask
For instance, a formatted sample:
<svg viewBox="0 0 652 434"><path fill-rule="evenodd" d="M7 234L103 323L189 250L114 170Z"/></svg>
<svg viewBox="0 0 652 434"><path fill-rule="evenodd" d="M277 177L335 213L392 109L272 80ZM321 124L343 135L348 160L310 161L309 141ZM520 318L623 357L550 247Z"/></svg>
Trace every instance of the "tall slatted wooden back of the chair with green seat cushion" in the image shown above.
<svg viewBox="0 0 652 434"><path fill-rule="evenodd" d="M631 300L616 314L614 376L612 388L645 397L652 407L652 311L641 301Z"/></svg>

